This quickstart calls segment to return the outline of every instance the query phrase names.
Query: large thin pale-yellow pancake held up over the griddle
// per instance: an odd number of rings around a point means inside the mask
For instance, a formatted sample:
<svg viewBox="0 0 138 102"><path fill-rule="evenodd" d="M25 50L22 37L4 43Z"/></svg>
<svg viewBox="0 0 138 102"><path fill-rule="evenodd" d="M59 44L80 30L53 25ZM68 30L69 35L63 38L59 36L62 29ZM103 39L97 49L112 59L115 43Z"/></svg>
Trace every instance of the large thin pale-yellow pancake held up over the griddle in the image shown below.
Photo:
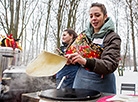
<svg viewBox="0 0 138 102"><path fill-rule="evenodd" d="M66 64L65 57L43 51L26 68L26 74L34 77L52 76Z"/></svg>

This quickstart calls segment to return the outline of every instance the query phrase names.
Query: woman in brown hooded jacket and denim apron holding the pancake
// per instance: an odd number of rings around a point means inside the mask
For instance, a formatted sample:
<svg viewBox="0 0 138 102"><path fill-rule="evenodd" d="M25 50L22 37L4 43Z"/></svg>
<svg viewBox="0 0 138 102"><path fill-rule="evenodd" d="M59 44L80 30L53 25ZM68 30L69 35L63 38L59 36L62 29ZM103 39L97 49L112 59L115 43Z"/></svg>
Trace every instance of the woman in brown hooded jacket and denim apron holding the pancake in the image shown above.
<svg viewBox="0 0 138 102"><path fill-rule="evenodd" d="M89 10L90 23L85 35L104 50L99 58L83 58L78 53L68 54L67 64L79 63L73 88L92 89L100 92L116 93L114 71L120 57L121 39L114 32L114 23L107 17L103 4L93 3ZM87 70L87 69L88 70Z"/></svg>

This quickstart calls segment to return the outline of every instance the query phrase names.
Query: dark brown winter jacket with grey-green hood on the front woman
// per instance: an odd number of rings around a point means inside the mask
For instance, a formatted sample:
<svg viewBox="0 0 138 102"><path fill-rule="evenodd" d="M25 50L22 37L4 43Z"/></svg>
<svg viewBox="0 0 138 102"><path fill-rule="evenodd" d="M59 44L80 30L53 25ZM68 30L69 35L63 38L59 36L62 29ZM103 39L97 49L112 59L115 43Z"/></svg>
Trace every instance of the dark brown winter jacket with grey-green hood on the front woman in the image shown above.
<svg viewBox="0 0 138 102"><path fill-rule="evenodd" d="M103 52L101 59L86 59L85 67L97 74L105 75L114 72L119 64L121 39L114 32L114 23L111 18L107 18L105 24L98 33L93 34L93 27L89 24L85 34L92 40L103 39Z"/></svg>

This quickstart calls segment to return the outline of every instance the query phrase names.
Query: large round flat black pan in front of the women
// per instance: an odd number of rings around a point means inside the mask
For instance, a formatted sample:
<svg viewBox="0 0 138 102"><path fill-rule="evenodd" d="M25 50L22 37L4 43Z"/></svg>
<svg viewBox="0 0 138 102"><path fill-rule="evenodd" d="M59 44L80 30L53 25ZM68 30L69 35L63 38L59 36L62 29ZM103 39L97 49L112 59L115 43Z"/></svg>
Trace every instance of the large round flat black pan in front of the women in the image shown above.
<svg viewBox="0 0 138 102"><path fill-rule="evenodd" d="M39 96L61 101L80 101L96 99L101 96L101 93L95 90L61 88L42 91Z"/></svg>

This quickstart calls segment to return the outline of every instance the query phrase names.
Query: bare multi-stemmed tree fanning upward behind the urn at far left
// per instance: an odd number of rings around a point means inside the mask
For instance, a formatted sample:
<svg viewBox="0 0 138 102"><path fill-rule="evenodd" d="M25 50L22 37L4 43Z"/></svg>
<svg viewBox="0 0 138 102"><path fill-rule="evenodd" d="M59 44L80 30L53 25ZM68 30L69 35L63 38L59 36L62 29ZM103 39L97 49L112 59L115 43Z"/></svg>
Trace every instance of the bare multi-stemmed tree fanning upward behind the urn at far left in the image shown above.
<svg viewBox="0 0 138 102"><path fill-rule="evenodd" d="M39 0L36 1L36 5L38 4L38 1ZM21 2L22 2L22 5L20 5ZM30 6L32 2L34 2L34 0L32 0L29 3L27 0L22 0L22 1L21 0L16 0L16 1L15 0L9 0L9 1L0 0L1 6L3 7L3 11L1 11L1 16L0 16L0 23L1 23L3 30L5 31L5 34L13 33L14 38L20 38L23 35L23 30L26 28L32 13L34 12L36 8L36 5L35 5L30 15L29 14L26 15L27 5ZM21 17L22 19L20 20L19 17ZM25 18L27 18L26 21L25 21ZM22 22L19 22L19 21L22 21ZM21 27L21 32L18 36L19 23L22 23L22 27Z"/></svg>

